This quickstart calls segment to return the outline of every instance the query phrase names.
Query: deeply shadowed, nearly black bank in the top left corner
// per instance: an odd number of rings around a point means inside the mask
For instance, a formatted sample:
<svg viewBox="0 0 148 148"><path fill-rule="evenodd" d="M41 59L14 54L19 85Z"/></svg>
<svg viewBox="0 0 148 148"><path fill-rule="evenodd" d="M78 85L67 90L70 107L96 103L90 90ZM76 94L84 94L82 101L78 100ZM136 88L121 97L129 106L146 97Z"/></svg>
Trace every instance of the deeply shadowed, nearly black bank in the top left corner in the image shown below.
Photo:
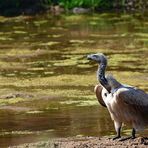
<svg viewBox="0 0 148 148"><path fill-rule="evenodd" d="M2 15L35 14L49 8L50 0L0 0L0 13Z"/></svg>

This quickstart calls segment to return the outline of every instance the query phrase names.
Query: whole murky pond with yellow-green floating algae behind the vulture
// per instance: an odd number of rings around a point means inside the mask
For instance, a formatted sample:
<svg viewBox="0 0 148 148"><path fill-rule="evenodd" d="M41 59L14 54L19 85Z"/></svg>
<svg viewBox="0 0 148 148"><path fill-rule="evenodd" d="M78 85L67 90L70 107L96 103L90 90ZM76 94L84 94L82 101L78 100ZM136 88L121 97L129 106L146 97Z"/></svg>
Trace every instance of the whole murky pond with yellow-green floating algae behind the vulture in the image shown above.
<svg viewBox="0 0 148 148"><path fill-rule="evenodd" d="M0 147L115 134L93 92L97 65L86 56L97 52L120 82L148 92L146 16L0 17Z"/></svg>

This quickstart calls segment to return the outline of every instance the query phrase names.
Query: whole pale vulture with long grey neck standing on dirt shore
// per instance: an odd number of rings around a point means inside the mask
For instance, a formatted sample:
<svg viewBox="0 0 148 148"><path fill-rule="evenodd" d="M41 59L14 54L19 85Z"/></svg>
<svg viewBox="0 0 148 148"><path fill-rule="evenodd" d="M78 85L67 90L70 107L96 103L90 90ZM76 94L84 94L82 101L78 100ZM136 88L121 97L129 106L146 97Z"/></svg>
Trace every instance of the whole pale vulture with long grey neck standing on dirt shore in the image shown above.
<svg viewBox="0 0 148 148"><path fill-rule="evenodd" d="M121 84L110 75L106 76L107 58L104 54L90 54L87 58L99 64L97 79L101 85L95 87L95 93L114 121L117 135L113 140L121 137L122 123L132 126L130 138L135 138L136 131L148 125L148 94L136 87Z"/></svg>

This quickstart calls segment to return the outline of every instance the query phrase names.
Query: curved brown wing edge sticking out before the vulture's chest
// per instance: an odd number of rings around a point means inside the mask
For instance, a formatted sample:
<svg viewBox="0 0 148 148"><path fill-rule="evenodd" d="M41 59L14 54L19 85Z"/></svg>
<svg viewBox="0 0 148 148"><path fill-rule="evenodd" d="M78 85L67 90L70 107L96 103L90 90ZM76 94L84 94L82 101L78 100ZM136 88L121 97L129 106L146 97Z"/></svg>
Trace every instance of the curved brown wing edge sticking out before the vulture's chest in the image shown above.
<svg viewBox="0 0 148 148"><path fill-rule="evenodd" d="M94 91L96 93L96 97L97 97L99 103L102 106L106 107L106 104L104 103L104 101L102 99L102 89L103 89L103 87L101 85L96 85Z"/></svg>

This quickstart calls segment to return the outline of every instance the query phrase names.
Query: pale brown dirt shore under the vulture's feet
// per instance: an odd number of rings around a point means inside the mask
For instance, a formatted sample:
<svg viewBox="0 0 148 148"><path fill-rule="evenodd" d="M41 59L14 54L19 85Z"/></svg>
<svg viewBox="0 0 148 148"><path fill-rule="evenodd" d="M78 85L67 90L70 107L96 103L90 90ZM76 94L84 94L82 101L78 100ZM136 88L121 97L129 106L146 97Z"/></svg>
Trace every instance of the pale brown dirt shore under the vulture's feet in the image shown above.
<svg viewBox="0 0 148 148"><path fill-rule="evenodd" d="M125 141L107 137L58 138L37 143L27 143L9 148L147 148L148 137L138 137Z"/></svg>

